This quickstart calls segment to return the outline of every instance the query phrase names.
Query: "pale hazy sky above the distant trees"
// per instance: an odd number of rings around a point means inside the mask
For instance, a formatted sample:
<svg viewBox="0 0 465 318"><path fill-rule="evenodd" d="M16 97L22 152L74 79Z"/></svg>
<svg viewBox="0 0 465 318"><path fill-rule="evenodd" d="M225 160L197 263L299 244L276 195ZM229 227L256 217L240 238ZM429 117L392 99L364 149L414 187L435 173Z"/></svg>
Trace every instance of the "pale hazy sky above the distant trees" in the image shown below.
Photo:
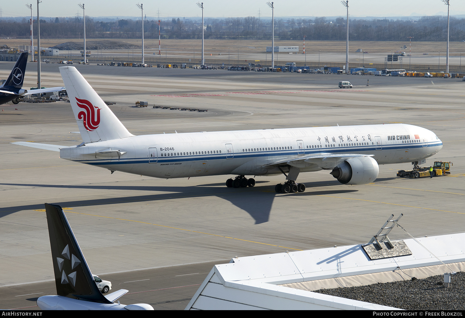
<svg viewBox="0 0 465 318"><path fill-rule="evenodd" d="M137 3L144 3L144 14L156 17L159 10L161 18L195 17L202 15L195 0L171 1L127 1L127 0L94 0L94 1L63 1L42 0L40 16L44 18L69 17L77 13L82 15L79 3L86 4L86 15L129 17L139 16ZM200 2L200 1L199 1ZM204 0L204 16L206 17L246 17L259 15L271 17L271 9L266 0ZM31 11L26 4L33 4L33 15L37 16L37 0L34 1L0 1L2 17L28 16ZM465 14L465 0L450 0L450 14ZM277 0L274 1L275 17L283 16L345 16L345 7L340 0ZM352 17L366 16L421 16L447 14L447 6L442 0L349 0L349 15Z"/></svg>

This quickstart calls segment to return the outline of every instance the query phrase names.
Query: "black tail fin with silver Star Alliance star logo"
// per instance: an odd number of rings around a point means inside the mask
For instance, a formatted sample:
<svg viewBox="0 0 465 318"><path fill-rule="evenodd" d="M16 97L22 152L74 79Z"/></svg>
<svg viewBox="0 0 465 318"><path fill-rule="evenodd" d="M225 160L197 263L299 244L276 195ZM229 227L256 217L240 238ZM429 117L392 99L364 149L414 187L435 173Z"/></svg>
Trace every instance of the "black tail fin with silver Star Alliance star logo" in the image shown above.
<svg viewBox="0 0 465 318"><path fill-rule="evenodd" d="M45 204L57 294L111 304L93 280L73 231L60 205Z"/></svg>

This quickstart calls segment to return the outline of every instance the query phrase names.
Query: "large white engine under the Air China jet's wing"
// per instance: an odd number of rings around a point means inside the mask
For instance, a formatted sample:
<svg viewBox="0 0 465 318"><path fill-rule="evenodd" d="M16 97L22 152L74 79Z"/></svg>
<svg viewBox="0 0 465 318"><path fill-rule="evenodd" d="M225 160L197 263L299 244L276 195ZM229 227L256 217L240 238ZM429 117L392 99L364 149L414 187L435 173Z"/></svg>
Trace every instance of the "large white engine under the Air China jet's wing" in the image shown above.
<svg viewBox="0 0 465 318"><path fill-rule="evenodd" d="M379 166L372 157L353 157L330 172L345 185L366 185L378 178Z"/></svg>

